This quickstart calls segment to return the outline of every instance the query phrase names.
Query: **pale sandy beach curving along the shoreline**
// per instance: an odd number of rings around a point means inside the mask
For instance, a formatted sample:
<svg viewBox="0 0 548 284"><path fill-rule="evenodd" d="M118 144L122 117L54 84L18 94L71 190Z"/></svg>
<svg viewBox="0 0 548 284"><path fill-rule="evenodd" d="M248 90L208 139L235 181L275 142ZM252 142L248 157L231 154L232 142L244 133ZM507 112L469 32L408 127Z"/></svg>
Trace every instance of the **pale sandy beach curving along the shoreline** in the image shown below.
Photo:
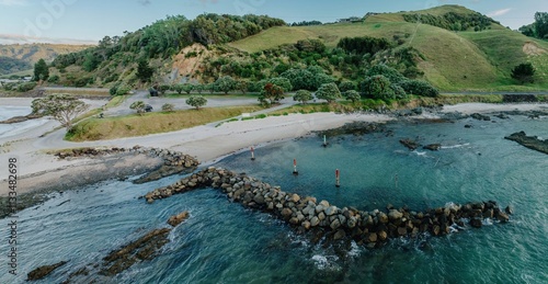
<svg viewBox="0 0 548 284"><path fill-rule="evenodd" d="M2 105L24 105L27 99L0 99ZM102 105L104 101L98 101ZM548 110L548 104L482 104L466 103L445 106L442 112L492 113L501 111L532 111ZM426 113L424 117L432 117ZM101 140L90 143L69 143L62 140L65 129L47 134L58 126L52 121L47 127L41 126L30 129L21 135L0 138L0 156L3 162L0 164L0 180L5 183L8 175L7 160L16 157L19 161L19 186L18 194L32 192L45 185L53 186L56 183L70 183L70 181L82 181L84 177L93 177L94 173L112 175L119 169L126 169L124 173L141 172L145 169L158 164L148 157L105 157L102 159L83 158L59 160L48 154L54 150L78 147L123 147L130 148L136 145L144 147L164 148L181 151L196 157L202 164L213 163L220 158L242 149L254 146L301 137L310 132L340 127L351 122L387 122L393 117L380 114L292 114L287 116L271 116L263 120L239 121L217 123L197 126L179 132L155 134L142 137L122 138L114 140ZM116 164L118 171L105 164ZM104 174L103 174L104 175ZM114 174L116 175L116 174ZM115 178L115 177L113 177ZM91 179L91 178L88 178ZM2 186L0 196L8 194L8 188Z"/></svg>

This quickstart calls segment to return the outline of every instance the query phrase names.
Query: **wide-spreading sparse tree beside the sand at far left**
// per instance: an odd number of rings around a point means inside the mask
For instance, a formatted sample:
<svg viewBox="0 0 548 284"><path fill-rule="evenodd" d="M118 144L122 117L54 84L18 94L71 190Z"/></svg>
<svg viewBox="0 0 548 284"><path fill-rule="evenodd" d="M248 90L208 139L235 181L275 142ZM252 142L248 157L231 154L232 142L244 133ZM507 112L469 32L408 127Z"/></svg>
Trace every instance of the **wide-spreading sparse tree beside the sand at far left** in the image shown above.
<svg viewBox="0 0 548 284"><path fill-rule="evenodd" d="M69 129L72 120L85 112L89 105L69 94L50 94L32 102L34 114L53 116Z"/></svg>

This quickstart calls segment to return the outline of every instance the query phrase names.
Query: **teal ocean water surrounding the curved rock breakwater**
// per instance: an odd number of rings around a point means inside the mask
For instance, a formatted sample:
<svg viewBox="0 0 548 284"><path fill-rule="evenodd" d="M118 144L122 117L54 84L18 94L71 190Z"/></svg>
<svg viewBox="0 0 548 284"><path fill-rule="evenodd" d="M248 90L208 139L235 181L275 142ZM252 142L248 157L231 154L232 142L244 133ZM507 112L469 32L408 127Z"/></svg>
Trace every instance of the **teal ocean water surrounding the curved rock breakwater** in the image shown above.
<svg viewBox="0 0 548 284"><path fill-rule="evenodd" d="M472 128L465 128L471 124ZM512 205L507 224L487 220L445 237L396 239L346 253L312 245L267 214L230 203L213 189L146 204L137 197L171 184L111 181L75 189L18 216L16 277L8 274L8 240L0 241L0 283L22 283L32 269L69 261L37 283L60 283L88 263L147 231L167 227L169 216L189 211L170 232L161 254L99 283L548 283L548 156L503 139L514 132L548 138L548 118L456 123L391 123L364 136L310 136L227 157L218 167L246 172L284 191L328 200L339 207L425 209L448 202L496 201ZM439 151L410 151L399 139L441 143ZM298 177L294 177L293 160ZM341 188L334 171L341 171ZM11 219L0 220L2 236Z"/></svg>

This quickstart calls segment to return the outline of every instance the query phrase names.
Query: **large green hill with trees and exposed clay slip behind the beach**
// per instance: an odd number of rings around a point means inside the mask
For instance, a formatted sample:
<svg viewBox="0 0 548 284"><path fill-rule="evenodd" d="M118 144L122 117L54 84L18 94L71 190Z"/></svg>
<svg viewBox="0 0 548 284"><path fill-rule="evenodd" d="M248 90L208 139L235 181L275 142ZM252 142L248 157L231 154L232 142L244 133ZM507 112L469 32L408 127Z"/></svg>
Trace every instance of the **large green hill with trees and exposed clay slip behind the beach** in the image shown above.
<svg viewBox="0 0 548 284"><path fill-rule="evenodd" d="M386 46L362 54L341 48L341 39L354 37L383 38ZM370 67L384 64L443 91L548 88L547 42L460 5L369 12L358 20L307 26L256 15L170 16L107 39L57 58L53 73L68 86L144 87L137 63L145 61L155 70L151 82L207 84L231 76L252 86L317 66L315 72L336 82L358 84ZM512 68L523 63L536 68L535 83L522 86L511 78Z"/></svg>

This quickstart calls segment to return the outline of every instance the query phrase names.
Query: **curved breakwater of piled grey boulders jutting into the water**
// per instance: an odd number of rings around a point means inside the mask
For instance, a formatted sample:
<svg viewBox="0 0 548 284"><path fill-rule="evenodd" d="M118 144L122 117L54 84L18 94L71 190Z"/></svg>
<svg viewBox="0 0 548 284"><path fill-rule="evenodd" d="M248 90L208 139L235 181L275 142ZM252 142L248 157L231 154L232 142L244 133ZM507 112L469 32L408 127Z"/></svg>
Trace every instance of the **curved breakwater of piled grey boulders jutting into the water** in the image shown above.
<svg viewBox="0 0 548 284"><path fill-rule="evenodd" d="M299 196L278 186L272 186L246 174L238 174L220 168L209 167L179 182L156 189L144 197L148 203L202 188L221 190L243 206L263 211L278 217L298 232L319 231L329 239L353 239L358 245L375 248L389 238L418 237L420 234L443 236L468 225L479 228L484 218L507 223L512 208L501 211L496 202L446 204L427 212L413 212L409 208L386 211L358 211L353 207L340 208L328 201L318 202L316 197Z"/></svg>

